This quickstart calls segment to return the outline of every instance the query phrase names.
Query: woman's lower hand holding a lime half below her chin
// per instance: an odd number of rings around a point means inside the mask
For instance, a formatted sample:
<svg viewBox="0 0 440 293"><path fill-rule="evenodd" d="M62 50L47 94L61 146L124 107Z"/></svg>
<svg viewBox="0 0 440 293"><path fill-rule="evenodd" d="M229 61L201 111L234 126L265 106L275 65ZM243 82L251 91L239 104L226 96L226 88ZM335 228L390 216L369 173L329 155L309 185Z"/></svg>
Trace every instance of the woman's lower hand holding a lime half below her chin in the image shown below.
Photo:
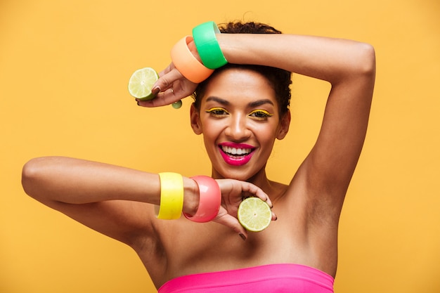
<svg viewBox="0 0 440 293"><path fill-rule="evenodd" d="M221 190L221 206L219 214L212 221L231 228L245 240L247 231L237 219L238 206L245 197L259 197L272 208L271 199L261 188L249 182L235 179L217 179L216 181ZM272 221L275 220L276 214L272 212Z"/></svg>

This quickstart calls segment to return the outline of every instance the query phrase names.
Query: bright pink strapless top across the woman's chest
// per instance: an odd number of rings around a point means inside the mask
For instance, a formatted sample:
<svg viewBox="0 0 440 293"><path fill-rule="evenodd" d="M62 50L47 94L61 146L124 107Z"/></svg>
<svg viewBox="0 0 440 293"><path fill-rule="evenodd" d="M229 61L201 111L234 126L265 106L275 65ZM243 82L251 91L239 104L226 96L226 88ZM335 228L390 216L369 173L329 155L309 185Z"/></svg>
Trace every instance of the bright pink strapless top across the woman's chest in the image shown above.
<svg viewBox="0 0 440 293"><path fill-rule="evenodd" d="M333 293L334 281L316 268L279 263L183 275L164 283L158 293Z"/></svg>

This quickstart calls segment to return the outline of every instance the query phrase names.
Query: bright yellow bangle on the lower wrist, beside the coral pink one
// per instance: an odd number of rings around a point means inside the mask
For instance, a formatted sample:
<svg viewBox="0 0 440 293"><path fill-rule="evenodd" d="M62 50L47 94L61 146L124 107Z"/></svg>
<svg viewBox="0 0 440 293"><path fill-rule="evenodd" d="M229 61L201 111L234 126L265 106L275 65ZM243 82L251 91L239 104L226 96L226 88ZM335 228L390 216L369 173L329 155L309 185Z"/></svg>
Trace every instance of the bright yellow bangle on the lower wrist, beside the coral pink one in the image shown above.
<svg viewBox="0 0 440 293"><path fill-rule="evenodd" d="M177 173L160 173L160 208L157 219L179 219L183 209L183 178Z"/></svg>

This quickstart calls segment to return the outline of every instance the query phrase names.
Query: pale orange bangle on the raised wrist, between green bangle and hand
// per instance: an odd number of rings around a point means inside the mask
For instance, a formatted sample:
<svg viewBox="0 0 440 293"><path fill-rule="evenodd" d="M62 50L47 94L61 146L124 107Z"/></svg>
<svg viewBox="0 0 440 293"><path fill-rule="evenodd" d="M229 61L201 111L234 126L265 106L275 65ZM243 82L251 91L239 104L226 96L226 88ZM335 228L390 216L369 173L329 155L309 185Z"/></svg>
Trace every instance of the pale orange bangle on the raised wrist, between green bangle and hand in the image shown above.
<svg viewBox="0 0 440 293"><path fill-rule="evenodd" d="M171 59L177 70L190 82L199 84L214 72L202 63L191 53L191 48L195 49L193 37L186 36L178 41L171 50Z"/></svg>

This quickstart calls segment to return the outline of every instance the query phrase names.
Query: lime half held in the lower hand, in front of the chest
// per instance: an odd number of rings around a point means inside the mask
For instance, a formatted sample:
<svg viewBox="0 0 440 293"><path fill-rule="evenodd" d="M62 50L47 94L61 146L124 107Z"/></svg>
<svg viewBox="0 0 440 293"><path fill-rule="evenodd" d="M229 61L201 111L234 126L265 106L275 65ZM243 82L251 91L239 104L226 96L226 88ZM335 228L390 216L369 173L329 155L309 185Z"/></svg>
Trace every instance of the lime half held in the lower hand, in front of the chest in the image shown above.
<svg viewBox="0 0 440 293"><path fill-rule="evenodd" d="M258 197L247 197L238 207L238 221L246 230L259 232L271 223L271 208Z"/></svg>

